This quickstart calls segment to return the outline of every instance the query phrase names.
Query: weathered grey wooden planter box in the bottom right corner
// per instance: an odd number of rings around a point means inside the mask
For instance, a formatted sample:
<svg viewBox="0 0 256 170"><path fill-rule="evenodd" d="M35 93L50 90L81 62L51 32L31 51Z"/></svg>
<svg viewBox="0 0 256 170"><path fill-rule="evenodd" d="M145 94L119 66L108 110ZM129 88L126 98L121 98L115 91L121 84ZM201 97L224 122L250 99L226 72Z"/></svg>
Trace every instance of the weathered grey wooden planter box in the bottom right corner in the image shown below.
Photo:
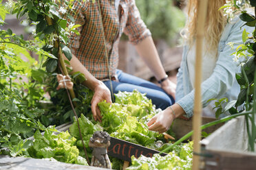
<svg viewBox="0 0 256 170"><path fill-rule="evenodd" d="M256 169L256 153L247 150L246 122L241 116L202 140L202 169Z"/></svg>

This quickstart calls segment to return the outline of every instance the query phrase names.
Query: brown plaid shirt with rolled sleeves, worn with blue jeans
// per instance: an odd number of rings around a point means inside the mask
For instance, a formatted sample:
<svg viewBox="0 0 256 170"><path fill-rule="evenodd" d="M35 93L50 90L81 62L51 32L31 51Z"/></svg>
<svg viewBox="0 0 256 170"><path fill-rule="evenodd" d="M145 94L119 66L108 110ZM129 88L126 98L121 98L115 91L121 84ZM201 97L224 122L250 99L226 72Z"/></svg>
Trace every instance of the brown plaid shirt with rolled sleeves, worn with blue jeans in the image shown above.
<svg viewBox="0 0 256 170"><path fill-rule="evenodd" d="M104 34L107 45L105 57L105 43L98 10L98 1L74 1L74 23L78 27L80 36L72 34L70 47L85 68L98 80L109 80L116 74L118 66L118 43L122 32L127 34L134 45L147 36L151 36L149 29L140 19L140 13L135 0L120 0L120 16L115 10L115 0L99 0L103 20Z"/></svg>

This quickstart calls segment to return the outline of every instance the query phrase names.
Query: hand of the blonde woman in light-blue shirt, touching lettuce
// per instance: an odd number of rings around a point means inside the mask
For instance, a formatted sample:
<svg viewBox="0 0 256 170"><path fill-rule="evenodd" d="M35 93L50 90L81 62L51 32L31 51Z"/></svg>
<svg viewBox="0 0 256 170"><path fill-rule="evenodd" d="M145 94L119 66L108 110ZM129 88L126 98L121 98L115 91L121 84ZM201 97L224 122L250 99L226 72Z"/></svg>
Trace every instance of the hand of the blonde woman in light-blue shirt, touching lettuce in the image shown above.
<svg viewBox="0 0 256 170"><path fill-rule="evenodd" d="M147 125L149 126L149 130L153 130L162 134L163 132L169 130L174 119L174 114L171 113L170 108L167 108L152 117Z"/></svg>

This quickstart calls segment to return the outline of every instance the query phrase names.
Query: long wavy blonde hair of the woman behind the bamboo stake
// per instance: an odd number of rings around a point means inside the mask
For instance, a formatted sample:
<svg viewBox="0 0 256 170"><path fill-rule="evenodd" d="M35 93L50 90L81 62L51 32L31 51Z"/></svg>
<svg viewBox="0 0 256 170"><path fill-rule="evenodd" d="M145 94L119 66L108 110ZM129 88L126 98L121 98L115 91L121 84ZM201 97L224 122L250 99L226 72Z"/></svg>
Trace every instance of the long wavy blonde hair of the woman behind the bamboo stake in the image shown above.
<svg viewBox="0 0 256 170"><path fill-rule="evenodd" d="M217 49L220 36L222 36L222 32L226 25L227 20L224 16L224 12L223 10L219 10L225 3L225 0L209 0L204 29L204 37L206 38L206 42L209 43L207 45L207 50L209 51ZM186 8L188 19L182 30L182 32L184 32L182 38L184 38L185 42L191 47L195 40L195 35L197 34L196 22L199 8L198 0L188 0Z"/></svg>

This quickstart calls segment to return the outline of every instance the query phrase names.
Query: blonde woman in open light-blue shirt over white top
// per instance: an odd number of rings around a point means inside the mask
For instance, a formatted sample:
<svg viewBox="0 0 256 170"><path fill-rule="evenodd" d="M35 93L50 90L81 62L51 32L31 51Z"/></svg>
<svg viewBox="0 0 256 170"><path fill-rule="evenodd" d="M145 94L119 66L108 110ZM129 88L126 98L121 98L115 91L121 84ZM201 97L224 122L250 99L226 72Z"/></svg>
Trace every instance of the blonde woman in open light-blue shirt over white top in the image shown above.
<svg viewBox="0 0 256 170"><path fill-rule="evenodd" d="M227 22L223 10L219 10L225 0L209 0L204 29L204 43L202 51L202 104L204 110L208 100L228 97L234 99L239 93L239 86L235 80L235 73L239 71L237 63L231 54L228 42L242 44L242 32L246 29L253 32L253 27L242 27L244 22L235 17ZM163 110L149 122L149 130L165 132L169 130L176 117L186 114L193 116L195 81L195 35L198 15L198 0L188 0L188 19L182 31L184 49L182 63L178 71L175 104Z"/></svg>

